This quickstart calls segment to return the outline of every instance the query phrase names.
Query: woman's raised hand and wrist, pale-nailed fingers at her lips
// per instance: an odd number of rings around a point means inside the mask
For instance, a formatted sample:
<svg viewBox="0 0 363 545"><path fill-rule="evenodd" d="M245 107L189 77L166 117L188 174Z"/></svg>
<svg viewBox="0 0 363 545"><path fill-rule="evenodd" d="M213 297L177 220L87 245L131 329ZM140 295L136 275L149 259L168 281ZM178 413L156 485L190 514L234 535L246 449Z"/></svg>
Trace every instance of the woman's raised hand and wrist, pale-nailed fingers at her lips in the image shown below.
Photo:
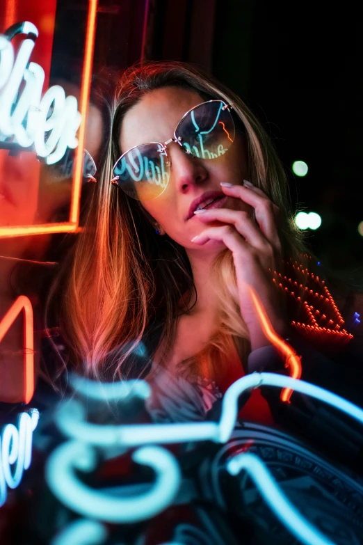
<svg viewBox="0 0 363 545"><path fill-rule="evenodd" d="M271 271L276 270L282 259L282 246L277 231L276 216L279 209L250 182L244 185L221 187L226 195L239 198L255 210L252 214L243 210L214 208L198 213L205 223L220 221L224 225L206 228L192 239L194 244L219 240L232 251L236 269L241 315L250 333L251 349L269 344L261 329L259 317L250 296L248 286L255 288L276 333L287 335L287 316L284 301L272 281Z"/></svg>

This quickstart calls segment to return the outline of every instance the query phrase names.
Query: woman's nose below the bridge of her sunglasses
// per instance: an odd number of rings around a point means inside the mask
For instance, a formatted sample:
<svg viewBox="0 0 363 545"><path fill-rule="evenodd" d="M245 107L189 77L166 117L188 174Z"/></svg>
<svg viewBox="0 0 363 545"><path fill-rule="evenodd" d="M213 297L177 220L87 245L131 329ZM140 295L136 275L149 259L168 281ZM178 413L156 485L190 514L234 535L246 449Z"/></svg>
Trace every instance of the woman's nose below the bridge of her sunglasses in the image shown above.
<svg viewBox="0 0 363 545"><path fill-rule="evenodd" d="M168 146L170 160L170 181L177 191L187 193L196 184L202 184L209 177L206 161L186 153L178 143Z"/></svg>

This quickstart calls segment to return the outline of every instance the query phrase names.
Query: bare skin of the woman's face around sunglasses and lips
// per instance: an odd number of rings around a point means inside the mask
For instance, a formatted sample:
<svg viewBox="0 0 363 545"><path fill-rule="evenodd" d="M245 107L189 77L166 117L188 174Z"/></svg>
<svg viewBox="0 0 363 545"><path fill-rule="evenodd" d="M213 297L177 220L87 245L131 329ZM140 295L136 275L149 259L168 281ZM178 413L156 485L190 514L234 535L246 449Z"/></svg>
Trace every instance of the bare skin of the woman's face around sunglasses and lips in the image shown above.
<svg viewBox="0 0 363 545"><path fill-rule="evenodd" d="M175 127L186 111L204 100L190 90L166 87L147 93L124 116L120 135L122 153L135 145L147 142L163 143L174 135ZM247 176L247 159L243 137L236 139L229 150L218 159L199 159L186 155L183 148L172 142L168 145L171 161L170 180L163 193L153 200L141 200L161 228L175 242L186 249L225 247L223 242L210 240L204 246L191 239L204 229L221 225L218 221L202 223L197 214L188 219L193 200L205 191L221 191L220 182L242 184ZM228 197L225 208L251 211L241 199ZM252 212L252 211L251 211Z"/></svg>

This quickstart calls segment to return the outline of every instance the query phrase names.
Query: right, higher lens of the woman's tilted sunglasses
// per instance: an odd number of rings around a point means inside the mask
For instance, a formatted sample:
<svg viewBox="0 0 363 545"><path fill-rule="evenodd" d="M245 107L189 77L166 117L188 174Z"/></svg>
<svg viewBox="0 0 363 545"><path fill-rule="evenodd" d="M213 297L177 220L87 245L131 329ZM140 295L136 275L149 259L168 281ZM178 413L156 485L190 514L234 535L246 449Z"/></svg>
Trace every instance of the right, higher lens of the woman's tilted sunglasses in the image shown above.
<svg viewBox="0 0 363 545"><path fill-rule="evenodd" d="M189 112L179 123L176 136L195 157L216 159L224 155L234 141L234 121L219 100L205 102Z"/></svg>

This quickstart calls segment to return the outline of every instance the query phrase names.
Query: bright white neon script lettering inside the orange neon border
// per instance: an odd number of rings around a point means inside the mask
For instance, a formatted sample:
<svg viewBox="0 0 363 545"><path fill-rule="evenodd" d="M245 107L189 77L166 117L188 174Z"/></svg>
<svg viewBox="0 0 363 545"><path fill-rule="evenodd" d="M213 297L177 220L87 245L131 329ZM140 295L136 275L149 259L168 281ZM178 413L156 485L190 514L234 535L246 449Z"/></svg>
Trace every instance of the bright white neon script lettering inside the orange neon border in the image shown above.
<svg viewBox="0 0 363 545"><path fill-rule="evenodd" d="M34 145L39 157L44 157L47 164L54 164L68 147L78 145L76 131L81 123L81 113L76 98L65 97L61 86L50 87L42 97L45 72L37 63L29 62L38 29L32 23L24 22L19 32L27 38L20 45L16 58L11 42L6 36L0 36L0 133L3 137L14 136L22 148ZM25 86L19 95L22 81Z"/></svg>

